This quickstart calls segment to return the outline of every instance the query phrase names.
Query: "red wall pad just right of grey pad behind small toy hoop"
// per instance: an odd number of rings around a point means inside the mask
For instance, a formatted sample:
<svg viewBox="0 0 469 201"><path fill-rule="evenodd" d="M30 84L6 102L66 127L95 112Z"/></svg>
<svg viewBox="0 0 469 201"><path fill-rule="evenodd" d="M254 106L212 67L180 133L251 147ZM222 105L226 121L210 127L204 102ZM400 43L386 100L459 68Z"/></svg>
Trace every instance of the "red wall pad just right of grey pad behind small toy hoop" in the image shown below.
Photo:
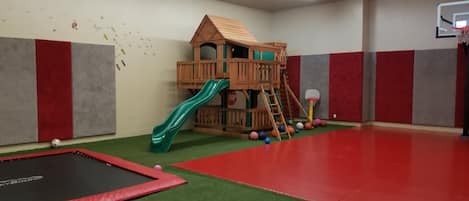
<svg viewBox="0 0 469 201"><path fill-rule="evenodd" d="M330 56L329 118L362 121L363 52Z"/></svg>

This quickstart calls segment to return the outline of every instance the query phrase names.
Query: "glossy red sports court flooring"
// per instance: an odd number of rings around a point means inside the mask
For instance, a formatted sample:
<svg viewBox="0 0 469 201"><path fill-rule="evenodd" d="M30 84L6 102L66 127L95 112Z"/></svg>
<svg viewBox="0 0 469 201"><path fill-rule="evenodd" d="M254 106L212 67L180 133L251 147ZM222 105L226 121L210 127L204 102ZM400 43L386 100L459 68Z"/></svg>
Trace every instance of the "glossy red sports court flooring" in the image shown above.
<svg viewBox="0 0 469 201"><path fill-rule="evenodd" d="M377 127L175 165L315 201L469 200L469 139Z"/></svg>

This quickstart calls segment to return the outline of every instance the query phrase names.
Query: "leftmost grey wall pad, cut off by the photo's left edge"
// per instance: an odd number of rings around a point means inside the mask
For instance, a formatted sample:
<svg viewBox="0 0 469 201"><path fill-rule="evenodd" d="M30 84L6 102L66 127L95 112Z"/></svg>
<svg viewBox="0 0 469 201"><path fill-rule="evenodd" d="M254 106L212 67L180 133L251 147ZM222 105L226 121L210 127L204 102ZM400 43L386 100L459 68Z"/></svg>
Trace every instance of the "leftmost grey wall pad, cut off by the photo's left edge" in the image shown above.
<svg viewBox="0 0 469 201"><path fill-rule="evenodd" d="M0 145L37 141L34 40L0 38Z"/></svg>

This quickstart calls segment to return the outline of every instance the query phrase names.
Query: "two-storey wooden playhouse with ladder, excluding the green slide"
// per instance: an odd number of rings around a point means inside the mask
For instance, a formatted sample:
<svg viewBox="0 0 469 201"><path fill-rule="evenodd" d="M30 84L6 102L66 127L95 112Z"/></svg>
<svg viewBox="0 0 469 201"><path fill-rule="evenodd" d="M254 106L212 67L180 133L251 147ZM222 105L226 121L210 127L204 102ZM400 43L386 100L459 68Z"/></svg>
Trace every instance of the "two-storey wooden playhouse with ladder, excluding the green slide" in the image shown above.
<svg viewBox="0 0 469 201"><path fill-rule="evenodd" d="M195 94L207 80L230 81L229 89L220 93L215 105L198 109L194 130L239 135L273 128L273 132L280 133L274 125L286 127L283 109L288 109L292 118L290 101L299 104L296 98L291 100L294 95L288 95L292 92L284 73L286 43L258 42L239 21L206 15L191 44L193 61L177 63L178 88ZM228 96L233 91L243 94L244 108L228 105ZM262 99L260 104L258 98ZM282 134L290 136L288 132Z"/></svg>

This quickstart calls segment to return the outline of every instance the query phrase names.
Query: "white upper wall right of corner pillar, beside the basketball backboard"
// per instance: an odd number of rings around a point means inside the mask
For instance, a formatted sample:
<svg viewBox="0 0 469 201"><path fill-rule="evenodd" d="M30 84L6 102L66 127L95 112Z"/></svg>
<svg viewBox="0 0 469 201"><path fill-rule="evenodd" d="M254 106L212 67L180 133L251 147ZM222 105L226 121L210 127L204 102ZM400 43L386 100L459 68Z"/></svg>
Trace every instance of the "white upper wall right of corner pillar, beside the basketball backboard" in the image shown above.
<svg viewBox="0 0 469 201"><path fill-rule="evenodd" d="M436 5L455 0L369 0L370 51L455 48L436 39Z"/></svg>

